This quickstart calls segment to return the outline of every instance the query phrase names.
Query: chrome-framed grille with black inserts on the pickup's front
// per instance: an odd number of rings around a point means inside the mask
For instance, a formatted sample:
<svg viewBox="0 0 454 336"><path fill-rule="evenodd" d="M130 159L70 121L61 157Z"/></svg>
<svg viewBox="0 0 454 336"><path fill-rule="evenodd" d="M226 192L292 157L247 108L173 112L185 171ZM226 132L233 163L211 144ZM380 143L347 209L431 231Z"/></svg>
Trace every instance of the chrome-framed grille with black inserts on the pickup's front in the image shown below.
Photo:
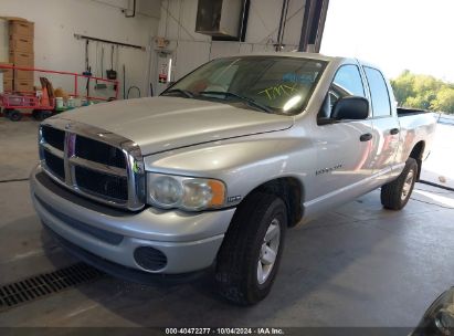
<svg viewBox="0 0 454 336"><path fill-rule="evenodd" d="M117 208L145 204L145 171L139 147L129 139L61 118L40 127L44 171L74 192Z"/></svg>

